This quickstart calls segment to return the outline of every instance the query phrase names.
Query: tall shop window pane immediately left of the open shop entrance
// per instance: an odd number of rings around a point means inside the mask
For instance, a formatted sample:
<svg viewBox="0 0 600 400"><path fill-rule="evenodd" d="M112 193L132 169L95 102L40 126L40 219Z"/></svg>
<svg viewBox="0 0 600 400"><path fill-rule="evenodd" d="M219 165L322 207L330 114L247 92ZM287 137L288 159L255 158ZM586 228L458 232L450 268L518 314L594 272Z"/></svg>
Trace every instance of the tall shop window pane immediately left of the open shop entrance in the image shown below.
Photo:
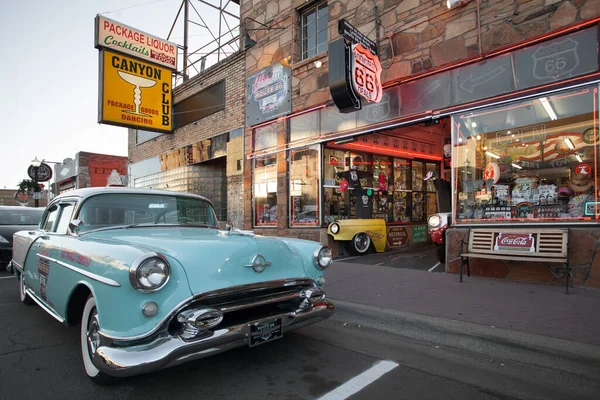
<svg viewBox="0 0 600 400"><path fill-rule="evenodd" d="M319 150L294 150L291 151L290 159L290 225L320 225Z"/></svg>

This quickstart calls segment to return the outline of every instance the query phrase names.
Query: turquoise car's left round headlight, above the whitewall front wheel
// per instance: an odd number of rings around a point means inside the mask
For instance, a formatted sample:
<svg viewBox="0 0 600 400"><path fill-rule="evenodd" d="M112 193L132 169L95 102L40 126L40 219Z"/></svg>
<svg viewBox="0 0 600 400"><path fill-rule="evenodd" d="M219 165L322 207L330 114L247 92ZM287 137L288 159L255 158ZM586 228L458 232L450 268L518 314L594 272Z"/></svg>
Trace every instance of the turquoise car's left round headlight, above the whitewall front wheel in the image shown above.
<svg viewBox="0 0 600 400"><path fill-rule="evenodd" d="M164 256L156 253L145 255L136 261L129 271L131 286L143 292L161 289L171 275L171 268Z"/></svg>

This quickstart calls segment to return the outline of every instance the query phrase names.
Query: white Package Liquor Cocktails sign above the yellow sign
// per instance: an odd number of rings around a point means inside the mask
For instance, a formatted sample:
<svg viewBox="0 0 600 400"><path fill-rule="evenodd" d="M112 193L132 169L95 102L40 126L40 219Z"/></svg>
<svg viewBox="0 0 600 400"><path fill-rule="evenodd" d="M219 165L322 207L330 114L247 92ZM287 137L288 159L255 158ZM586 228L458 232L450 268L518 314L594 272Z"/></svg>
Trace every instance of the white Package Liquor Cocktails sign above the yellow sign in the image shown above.
<svg viewBox="0 0 600 400"><path fill-rule="evenodd" d="M108 48L163 67L177 69L177 44L101 15L96 16L95 47Z"/></svg>

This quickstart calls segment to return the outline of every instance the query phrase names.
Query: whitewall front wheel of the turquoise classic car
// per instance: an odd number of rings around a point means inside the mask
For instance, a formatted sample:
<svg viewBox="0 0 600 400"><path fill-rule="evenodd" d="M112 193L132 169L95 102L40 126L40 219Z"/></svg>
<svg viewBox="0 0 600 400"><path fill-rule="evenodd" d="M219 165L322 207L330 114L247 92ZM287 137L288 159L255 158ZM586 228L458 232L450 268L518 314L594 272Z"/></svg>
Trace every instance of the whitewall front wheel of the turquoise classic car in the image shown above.
<svg viewBox="0 0 600 400"><path fill-rule="evenodd" d="M90 295L85 302L83 315L81 317L81 355L85 372L92 381L100 385L107 385L113 377L100 372L93 363L96 350L100 346L100 323L98 321L98 310L96 300Z"/></svg>

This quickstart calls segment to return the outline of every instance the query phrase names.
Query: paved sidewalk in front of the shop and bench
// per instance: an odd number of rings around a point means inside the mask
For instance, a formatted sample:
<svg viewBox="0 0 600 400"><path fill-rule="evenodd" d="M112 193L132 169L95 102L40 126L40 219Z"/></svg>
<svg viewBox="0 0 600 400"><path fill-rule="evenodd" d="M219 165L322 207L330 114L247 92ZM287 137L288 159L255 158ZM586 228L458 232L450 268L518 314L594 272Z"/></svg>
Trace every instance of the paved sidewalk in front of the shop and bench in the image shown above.
<svg viewBox="0 0 600 400"><path fill-rule="evenodd" d="M515 331L515 335L534 334L600 346L600 290L597 289L573 287L565 294L561 285L473 276L465 276L463 283L459 283L458 275L454 274L343 261L334 262L325 277L325 292L334 303L338 300L404 315ZM432 318L431 323L439 322L437 318Z"/></svg>

